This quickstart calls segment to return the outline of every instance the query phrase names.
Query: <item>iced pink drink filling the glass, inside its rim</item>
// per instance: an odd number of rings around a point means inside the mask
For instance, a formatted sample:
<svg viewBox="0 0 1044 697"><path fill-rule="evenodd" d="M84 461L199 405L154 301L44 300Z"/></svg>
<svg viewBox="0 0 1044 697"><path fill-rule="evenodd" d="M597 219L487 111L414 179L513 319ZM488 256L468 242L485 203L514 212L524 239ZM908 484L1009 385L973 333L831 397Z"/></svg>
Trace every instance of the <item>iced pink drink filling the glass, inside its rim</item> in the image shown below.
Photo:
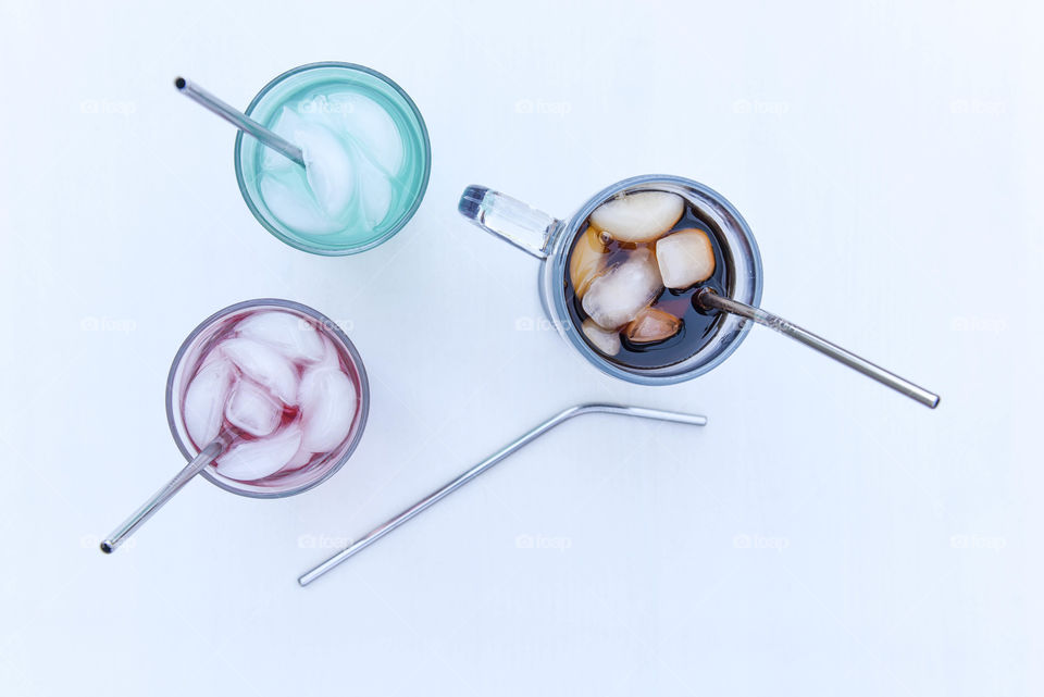
<svg viewBox="0 0 1044 697"><path fill-rule="evenodd" d="M208 326L183 357L178 409L200 450L228 447L216 474L254 487L291 488L337 463L358 431L359 370L315 319L256 308Z"/></svg>

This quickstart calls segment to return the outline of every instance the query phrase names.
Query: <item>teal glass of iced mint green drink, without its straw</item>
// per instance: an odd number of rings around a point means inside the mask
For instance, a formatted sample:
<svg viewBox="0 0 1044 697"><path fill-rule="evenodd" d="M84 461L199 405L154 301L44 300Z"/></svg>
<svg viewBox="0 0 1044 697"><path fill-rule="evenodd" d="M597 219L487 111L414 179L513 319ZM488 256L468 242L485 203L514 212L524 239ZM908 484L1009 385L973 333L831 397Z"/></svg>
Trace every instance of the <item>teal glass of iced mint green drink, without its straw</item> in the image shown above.
<svg viewBox="0 0 1044 697"><path fill-rule="evenodd" d="M318 254L374 247L413 215L431 150L417 107L368 69L318 63L269 84L247 113L300 146L308 171L249 136L236 139L247 206L273 235Z"/></svg>

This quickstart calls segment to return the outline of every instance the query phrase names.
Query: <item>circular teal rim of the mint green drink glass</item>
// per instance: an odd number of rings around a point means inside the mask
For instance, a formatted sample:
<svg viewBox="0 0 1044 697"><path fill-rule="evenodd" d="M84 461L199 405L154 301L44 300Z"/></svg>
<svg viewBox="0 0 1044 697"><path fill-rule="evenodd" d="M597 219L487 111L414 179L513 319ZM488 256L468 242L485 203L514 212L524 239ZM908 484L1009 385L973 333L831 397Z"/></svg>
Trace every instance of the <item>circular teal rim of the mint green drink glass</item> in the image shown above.
<svg viewBox="0 0 1044 697"><path fill-rule="evenodd" d="M421 110L418 109L417 103L413 101L413 99L408 94L406 94L406 90L399 87L398 83L396 83L394 79L391 79L384 73L377 72L372 67L366 67L365 65L359 65L357 63L345 63L340 61L320 61L316 63L306 63L303 65L298 65L297 67L291 67L290 70L279 73L278 75L273 77L271 80L269 80L269 83L264 87L262 87L257 95L254 95L253 99L250 100L250 103L247 105L247 109L244 111L244 113L247 114L248 116L251 115L253 113L254 108L257 108L257 105L261 102L264 96L268 95L270 91L272 91L272 89L275 88L283 80L288 79L294 75L297 75L298 73L304 73L308 71L320 70L324 67L344 69L348 71L353 71L357 73L364 73L366 75L376 77L381 82L385 83L393 90L395 90L395 92L398 94L403 99L403 101L406 101L407 105L410 108L410 111L413 113L413 116L417 119L417 123L420 125L420 135L421 135L421 139L423 141L423 147L424 147L424 175L421 178L421 183L417 189L417 196L414 196L412 204L406 211L406 213L402 214L402 219L399 221L399 223L390 227L387 232L385 232L383 235L381 235L376 239L372 239L364 245L347 247L344 249L328 249L324 247L316 247L314 245L309 245L306 241L294 239L291 237L288 237L282 231L277 229L274 225L272 225L268 220L265 220L265 217L261 214L261 211L258 210L258 207L253 202L253 199L247 192L246 182L243 175L241 150L243 150L244 134L241 130L236 132L236 147L235 147L235 150L233 151L233 160L234 160L234 165L236 170L236 184L239 186L239 194L243 196L243 200L246 202L247 208L250 210L250 213L253 215L254 219L257 219L259 223L261 223L262 227L269 231L269 233L271 233L279 241L286 245L289 245L295 249L299 249L301 251L304 251L311 254L319 254L321 257L347 257L349 254L358 254L359 252L366 251L368 249L373 249L377 245L386 242L396 233L398 233L403 227L406 227L407 223L413 220L413 215L417 213L417 210L421 207L421 201L424 200L424 195L427 192L427 184L428 184L428 181L431 179L432 141L431 141L431 138L428 137L427 124L424 122L424 116L421 114Z"/></svg>

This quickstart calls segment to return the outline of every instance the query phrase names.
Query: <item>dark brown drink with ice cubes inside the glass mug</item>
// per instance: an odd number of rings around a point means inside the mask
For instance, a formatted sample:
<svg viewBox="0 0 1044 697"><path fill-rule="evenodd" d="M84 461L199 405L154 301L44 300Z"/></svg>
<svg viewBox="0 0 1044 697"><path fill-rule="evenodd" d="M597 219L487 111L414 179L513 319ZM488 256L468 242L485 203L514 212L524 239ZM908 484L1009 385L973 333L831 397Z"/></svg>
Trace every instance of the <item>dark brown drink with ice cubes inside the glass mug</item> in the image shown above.
<svg viewBox="0 0 1044 697"><path fill-rule="evenodd" d="M609 199L584 222L570 250L566 304L602 358L658 369L698 352L721 318L694 302L703 288L726 295L729 267L714 226L668 191Z"/></svg>

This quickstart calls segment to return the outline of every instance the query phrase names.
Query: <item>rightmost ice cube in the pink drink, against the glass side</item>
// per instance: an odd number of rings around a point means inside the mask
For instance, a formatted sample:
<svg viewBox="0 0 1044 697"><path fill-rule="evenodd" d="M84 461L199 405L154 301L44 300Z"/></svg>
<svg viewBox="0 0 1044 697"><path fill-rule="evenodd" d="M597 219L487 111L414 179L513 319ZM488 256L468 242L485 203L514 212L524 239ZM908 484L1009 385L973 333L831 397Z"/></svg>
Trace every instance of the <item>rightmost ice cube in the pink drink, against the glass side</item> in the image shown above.
<svg viewBox="0 0 1044 697"><path fill-rule="evenodd" d="M306 450L328 452L348 437L356 419L356 386L347 375L326 368L308 370L299 402Z"/></svg>

